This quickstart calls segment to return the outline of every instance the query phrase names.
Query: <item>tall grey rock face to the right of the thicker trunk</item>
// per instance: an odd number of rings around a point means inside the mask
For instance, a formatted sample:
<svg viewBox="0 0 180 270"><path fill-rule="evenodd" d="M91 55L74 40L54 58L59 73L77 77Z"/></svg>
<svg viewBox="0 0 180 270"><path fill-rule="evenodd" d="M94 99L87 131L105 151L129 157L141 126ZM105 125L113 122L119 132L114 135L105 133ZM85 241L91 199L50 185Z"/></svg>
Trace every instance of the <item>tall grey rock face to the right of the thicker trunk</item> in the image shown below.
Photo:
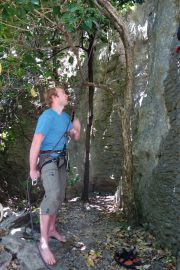
<svg viewBox="0 0 180 270"><path fill-rule="evenodd" d="M178 1L138 8L134 46L133 160L139 214L161 240L180 248L180 54Z"/></svg>

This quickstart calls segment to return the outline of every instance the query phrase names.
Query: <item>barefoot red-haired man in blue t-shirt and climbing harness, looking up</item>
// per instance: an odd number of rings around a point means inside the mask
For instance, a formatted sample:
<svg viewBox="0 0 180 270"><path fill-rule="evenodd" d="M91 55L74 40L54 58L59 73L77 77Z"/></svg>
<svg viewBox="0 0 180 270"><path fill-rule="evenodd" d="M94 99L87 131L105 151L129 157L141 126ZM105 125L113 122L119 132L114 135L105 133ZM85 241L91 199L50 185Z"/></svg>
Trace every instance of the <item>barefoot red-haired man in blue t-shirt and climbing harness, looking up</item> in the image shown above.
<svg viewBox="0 0 180 270"><path fill-rule="evenodd" d="M50 236L65 242L65 236L55 227L56 215L64 200L66 181L65 146L67 134L74 140L80 138L80 122L71 123L68 114L63 112L68 104L68 95L63 88L51 88L47 91L46 103L50 107L39 117L30 149L30 177L37 179L40 171L37 167L40 158L41 179L45 194L40 205L41 238L39 250L44 261L53 265L56 260L49 248Z"/></svg>

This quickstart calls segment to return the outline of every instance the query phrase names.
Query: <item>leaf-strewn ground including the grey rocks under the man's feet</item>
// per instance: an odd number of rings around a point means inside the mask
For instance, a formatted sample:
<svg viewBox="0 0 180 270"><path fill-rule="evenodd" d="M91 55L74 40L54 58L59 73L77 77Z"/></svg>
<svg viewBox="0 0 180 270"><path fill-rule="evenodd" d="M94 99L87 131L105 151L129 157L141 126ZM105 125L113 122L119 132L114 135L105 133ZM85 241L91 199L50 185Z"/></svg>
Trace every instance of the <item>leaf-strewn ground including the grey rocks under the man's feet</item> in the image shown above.
<svg viewBox="0 0 180 270"><path fill-rule="evenodd" d="M39 239L38 217L33 213L34 237ZM29 214L4 209L0 223L0 269L43 270L27 224ZM36 224L37 223L37 224ZM173 270L175 257L161 249L154 237L142 227L130 227L121 212L115 211L114 197L94 194L90 203L74 198L63 205L58 215L58 228L68 241L51 239L57 270L119 270L114 260L116 251L135 247L142 265L140 270Z"/></svg>

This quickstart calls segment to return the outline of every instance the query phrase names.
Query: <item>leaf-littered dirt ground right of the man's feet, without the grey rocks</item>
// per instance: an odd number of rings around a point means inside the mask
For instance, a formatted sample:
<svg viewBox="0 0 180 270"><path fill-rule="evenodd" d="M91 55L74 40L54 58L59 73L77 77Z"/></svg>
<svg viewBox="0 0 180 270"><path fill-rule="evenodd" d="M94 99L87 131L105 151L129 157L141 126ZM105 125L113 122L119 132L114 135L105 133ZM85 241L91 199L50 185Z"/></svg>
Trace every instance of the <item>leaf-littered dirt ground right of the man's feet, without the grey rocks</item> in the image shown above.
<svg viewBox="0 0 180 270"><path fill-rule="evenodd" d="M57 265L52 269L125 269L114 258L114 254L121 252L123 248L135 249L136 257L141 262L135 269L176 268L175 257L170 251L160 248L145 228L130 226L122 212L116 211L114 196L93 194L90 203L86 204L78 197L71 199L63 204L57 224L59 231L66 235L67 242L62 244L54 239L50 241L57 258ZM6 269L29 269L21 265L17 256ZM41 265L36 269L46 268Z"/></svg>

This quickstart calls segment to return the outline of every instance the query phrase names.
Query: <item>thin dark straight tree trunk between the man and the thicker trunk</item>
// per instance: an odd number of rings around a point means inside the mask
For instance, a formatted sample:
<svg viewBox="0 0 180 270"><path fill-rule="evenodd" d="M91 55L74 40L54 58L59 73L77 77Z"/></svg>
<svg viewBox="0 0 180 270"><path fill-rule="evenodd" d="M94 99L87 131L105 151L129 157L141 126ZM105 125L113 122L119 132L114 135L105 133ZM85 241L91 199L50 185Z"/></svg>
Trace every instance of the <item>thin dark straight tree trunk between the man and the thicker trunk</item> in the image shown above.
<svg viewBox="0 0 180 270"><path fill-rule="evenodd" d="M91 38L88 48L88 80L93 83L93 44L94 37ZM90 167L90 148L91 148L91 130L93 122L93 104L94 104L94 86L89 86L89 108L88 108L88 120L86 128L86 153L85 153L85 165L84 165L84 186L81 199L83 201L89 200L89 167Z"/></svg>

